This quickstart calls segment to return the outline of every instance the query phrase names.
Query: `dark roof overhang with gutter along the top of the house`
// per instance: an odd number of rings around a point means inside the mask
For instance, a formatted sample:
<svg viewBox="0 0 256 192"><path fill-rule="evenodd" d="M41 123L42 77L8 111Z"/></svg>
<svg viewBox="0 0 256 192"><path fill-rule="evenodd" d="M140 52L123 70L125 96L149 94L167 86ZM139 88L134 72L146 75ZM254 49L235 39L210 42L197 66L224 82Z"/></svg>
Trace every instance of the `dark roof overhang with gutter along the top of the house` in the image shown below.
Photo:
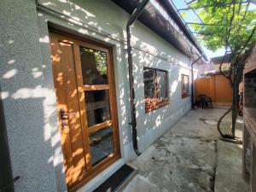
<svg viewBox="0 0 256 192"><path fill-rule="evenodd" d="M129 14L132 14L140 3L139 0L112 1ZM159 34L160 37L164 38L184 55L189 56L192 61L197 60L202 55L197 64L206 64L207 55L191 32L189 32L170 0L150 0L138 20Z"/></svg>

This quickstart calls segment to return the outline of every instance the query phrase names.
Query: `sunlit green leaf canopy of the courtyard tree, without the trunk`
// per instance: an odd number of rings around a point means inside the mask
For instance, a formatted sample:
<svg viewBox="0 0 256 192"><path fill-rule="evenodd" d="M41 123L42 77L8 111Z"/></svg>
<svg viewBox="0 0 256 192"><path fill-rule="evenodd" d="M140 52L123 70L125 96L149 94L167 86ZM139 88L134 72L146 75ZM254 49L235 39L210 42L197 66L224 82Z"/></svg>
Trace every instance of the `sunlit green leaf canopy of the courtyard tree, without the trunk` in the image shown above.
<svg viewBox="0 0 256 192"><path fill-rule="evenodd" d="M192 25L195 32L201 34L201 43L207 49L215 51L218 48L225 48L228 44L230 50L234 52L247 43L256 24L256 6L246 2L245 0L197 0L190 4L192 8L204 7L195 10L206 24L213 24L212 26ZM250 43L255 40L254 34Z"/></svg>

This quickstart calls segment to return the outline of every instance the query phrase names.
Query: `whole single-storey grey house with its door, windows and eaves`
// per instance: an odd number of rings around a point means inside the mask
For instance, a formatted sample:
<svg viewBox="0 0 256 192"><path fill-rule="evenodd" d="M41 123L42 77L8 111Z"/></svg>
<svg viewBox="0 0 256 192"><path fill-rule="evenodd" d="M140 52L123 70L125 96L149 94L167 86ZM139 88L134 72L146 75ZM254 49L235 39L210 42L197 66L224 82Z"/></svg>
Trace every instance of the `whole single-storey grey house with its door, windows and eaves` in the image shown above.
<svg viewBox="0 0 256 192"><path fill-rule="evenodd" d="M15 192L90 191L136 157L125 26L138 3L0 2ZM131 26L131 43L143 152L191 108L190 65L204 53L167 0L148 3Z"/></svg>

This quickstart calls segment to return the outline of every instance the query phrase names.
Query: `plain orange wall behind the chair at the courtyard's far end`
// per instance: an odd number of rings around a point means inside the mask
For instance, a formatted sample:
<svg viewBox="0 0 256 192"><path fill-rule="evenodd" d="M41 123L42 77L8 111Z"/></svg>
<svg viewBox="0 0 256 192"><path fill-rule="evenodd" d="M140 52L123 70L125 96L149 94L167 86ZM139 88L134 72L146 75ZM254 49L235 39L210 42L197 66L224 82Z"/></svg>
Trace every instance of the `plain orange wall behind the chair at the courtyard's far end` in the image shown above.
<svg viewBox="0 0 256 192"><path fill-rule="evenodd" d="M201 94L210 96L212 102L232 102L232 90L229 81L220 74L195 80L195 100L198 100L198 95Z"/></svg>

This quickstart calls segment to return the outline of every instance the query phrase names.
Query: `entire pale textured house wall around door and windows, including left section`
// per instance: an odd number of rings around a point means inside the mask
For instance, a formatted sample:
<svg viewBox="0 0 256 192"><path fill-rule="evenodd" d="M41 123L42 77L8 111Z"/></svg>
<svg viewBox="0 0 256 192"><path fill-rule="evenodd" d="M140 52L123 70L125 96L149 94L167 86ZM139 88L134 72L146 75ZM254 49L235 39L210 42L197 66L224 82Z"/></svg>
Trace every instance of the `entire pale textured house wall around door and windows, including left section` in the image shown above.
<svg viewBox="0 0 256 192"><path fill-rule="evenodd" d="M0 57L1 94L13 172L14 176L21 176L15 183L15 191L64 191L61 136L49 57L49 22L113 47L120 149L122 158L127 161L136 157L129 125L128 64L124 42L125 25L130 15L107 0L38 2L54 9L55 13L36 10L35 3L29 0L0 3L0 20L5 26L0 29L3 37L0 46L3 50L0 52L3 54ZM58 12L68 17L61 18ZM139 21L132 26L131 33L137 136L139 149L143 152L189 111L190 97L182 99L180 80L181 73L189 74L190 60ZM169 75L170 104L150 113L144 112L143 67L164 69ZM44 176L40 177L42 169ZM38 187L42 190L36 190Z"/></svg>

